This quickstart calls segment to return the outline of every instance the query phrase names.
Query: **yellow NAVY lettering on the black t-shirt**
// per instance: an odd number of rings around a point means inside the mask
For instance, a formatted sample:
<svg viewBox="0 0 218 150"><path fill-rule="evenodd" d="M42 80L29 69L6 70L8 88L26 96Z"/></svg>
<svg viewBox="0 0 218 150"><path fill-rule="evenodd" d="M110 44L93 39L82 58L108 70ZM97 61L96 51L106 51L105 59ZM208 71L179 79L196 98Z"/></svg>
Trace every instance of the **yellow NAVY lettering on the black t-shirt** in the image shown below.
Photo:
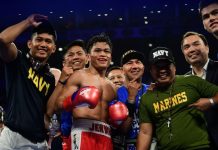
<svg viewBox="0 0 218 150"><path fill-rule="evenodd" d="M45 91L44 94L46 96L48 94L50 84L47 83L42 76L36 74L33 68L30 67L28 73L28 79L31 79L33 81L34 85L40 92Z"/></svg>

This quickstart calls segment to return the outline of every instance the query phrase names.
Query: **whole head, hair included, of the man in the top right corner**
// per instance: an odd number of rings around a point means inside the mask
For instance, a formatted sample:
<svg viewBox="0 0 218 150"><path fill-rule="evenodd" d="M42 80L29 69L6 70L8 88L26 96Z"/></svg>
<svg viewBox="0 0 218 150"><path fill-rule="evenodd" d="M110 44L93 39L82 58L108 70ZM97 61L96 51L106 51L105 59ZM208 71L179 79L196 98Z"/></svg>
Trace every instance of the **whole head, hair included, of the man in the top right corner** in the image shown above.
<svg viewBox="0 0 218 150"><path fill-rule="evenodd" d="M218 40L218 0L201 0L199 10L205 30Z"/></svg>

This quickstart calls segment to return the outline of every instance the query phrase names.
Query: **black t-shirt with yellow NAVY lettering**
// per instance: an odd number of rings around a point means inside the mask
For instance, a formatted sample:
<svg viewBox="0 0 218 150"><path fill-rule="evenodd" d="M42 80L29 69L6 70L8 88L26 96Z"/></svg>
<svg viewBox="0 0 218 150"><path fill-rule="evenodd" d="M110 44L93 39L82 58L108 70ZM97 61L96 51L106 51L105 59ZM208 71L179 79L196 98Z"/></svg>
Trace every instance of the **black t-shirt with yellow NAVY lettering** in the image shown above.
<svg viewBox="0 0 218 150"><path fill-rule="evenodd" d="M5 125L33 142L45 140L44 113L55 79L47 67L34 70L25 54L5 65Z"/></svg>

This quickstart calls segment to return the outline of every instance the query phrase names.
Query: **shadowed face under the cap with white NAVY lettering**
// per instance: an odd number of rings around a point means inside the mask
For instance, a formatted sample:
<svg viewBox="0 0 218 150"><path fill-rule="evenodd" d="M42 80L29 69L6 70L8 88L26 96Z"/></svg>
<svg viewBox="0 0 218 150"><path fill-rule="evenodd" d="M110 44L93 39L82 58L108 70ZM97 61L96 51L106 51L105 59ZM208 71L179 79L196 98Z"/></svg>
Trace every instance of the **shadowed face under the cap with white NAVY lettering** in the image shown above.
<svg viewBox="0 0 218 150"><path fill-rule="evenodd" d="M151 65L150 73L159 86L167 86L175 79L176 67L167 60L159 60Z"/></svg>

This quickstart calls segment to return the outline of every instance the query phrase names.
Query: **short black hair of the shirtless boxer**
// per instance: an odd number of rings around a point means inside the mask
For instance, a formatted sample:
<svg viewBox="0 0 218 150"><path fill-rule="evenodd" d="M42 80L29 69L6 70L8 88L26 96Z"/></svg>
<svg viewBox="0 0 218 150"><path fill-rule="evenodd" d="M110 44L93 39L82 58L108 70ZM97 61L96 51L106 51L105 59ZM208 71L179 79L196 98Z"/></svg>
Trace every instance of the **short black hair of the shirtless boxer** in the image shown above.
<svg viewBox="0 0 218 150"><path fill-rule="evenodd" d="M90 50L92 49L93 45L97 42L106 42L112 51L112 42L111 42L109 36L107 36L105 33L101 33L101 34L95 35L89 39L89 41L87 43L87 51L89 53L90 53Z"/></svg>

